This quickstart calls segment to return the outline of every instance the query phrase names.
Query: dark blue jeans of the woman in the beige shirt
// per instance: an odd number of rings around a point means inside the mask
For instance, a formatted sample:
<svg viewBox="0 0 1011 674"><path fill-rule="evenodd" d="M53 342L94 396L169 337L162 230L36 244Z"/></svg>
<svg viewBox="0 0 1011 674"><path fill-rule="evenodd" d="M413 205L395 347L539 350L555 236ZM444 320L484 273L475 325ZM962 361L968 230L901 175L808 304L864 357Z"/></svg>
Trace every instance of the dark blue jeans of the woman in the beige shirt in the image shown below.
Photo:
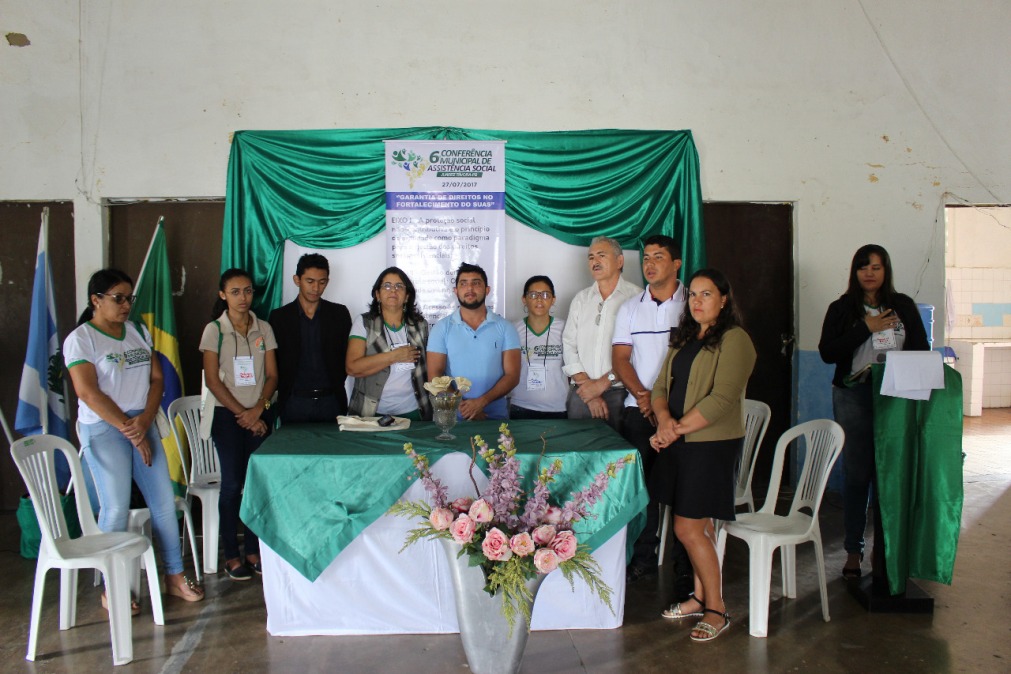
<svg viewBox="0 0 1011 674"><path fill-rule="evenodd" d="M335 417L336 418L336 417ZM269 419L267 427L270 427ZM217 450L217 462L221 467L221 494L217 499L217 515L224 559L239 557L239 511L243 504L243 487L246 485L246 469L250 456L258 449L266 437L257 437L243 428L236 421L236 415L226 407L214 407L214 420L210 426L210 437ZM260 554L260 539L243 522L243 541L246 556Z"/></svg>

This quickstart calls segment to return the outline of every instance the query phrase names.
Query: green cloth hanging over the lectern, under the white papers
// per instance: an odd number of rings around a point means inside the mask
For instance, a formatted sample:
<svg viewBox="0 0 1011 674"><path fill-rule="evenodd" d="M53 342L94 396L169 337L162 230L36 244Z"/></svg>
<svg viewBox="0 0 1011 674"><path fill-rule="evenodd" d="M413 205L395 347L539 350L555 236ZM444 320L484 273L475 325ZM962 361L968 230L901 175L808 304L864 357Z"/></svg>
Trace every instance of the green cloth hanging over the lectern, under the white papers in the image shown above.
<svg viewBox="0 0 1011 674"><path fill-rule="evenodd" d="M907 578L951 584L961 526L961 376L944 366L929 400L881 395L885 368L871 368L875 464L892 594Z"/></svg>

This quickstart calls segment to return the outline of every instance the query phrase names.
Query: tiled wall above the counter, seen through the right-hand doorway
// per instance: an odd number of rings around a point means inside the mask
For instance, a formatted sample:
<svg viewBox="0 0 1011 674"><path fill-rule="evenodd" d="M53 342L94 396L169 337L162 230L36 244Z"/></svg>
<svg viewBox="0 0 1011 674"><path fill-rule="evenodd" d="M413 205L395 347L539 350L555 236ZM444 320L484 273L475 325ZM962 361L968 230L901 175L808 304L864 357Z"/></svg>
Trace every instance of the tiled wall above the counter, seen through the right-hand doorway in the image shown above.
<svg viewBox="0 0 1011 674"><path fill-rule="evenodd" d="M955 314L949 340L1011 339L1011 269L948 267L944 276Z"/></svg>

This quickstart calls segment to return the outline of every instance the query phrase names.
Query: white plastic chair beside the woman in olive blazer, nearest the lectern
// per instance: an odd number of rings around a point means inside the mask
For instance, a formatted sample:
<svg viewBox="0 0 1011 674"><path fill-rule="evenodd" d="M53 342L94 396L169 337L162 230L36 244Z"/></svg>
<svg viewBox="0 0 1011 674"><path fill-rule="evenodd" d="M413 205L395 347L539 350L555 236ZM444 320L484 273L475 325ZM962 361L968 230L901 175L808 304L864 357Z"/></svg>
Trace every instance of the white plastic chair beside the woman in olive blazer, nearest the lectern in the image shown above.
<svg viewBox="0 0 1011 674"><path fill-rule="evenodd" d="M775 514L783 467L791 443L804 439L798 447L798 459L803 460L797 490L786 515ZM748 544L749 563L749 613L748 632L752 637L768 636L768 601L772 582L772 554L779 551L783 566L783 594L797 596L797 546L811 542L815 545L818 564L818 581L821 586L822 617L828 614L828 586L825 579L825 554L822 551L821 528L818 525L818 508L821 506L825 485L832 465L842 452L844 434L842 426L831 419L815 419L794 426L783 434L775 446L772 474L768 495L758 512L742 512L736 521L725 522L723 533Z"/></svg>

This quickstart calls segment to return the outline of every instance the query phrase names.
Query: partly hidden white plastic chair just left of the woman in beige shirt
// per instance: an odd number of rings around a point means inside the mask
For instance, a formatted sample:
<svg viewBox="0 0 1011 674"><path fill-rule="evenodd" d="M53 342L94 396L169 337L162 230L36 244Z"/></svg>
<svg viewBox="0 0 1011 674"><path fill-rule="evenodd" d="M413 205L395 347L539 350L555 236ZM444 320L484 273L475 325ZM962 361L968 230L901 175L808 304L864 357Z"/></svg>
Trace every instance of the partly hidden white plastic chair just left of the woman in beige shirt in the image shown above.
<svg viewBox="0 0 1011 674"><path fill-rule="evenodd" d="M217 450L210 440L200 438L200 396L187 395L169 404L169 424L175 434L176 447L182 455L182 443L176 427L176 417L182 421L190 450L190 471L187 495L200 499L203 511L203 571L217 573L217 499L221 493L221 469L217 463ZM185 457L182 458L186 466Z"/></svg>

